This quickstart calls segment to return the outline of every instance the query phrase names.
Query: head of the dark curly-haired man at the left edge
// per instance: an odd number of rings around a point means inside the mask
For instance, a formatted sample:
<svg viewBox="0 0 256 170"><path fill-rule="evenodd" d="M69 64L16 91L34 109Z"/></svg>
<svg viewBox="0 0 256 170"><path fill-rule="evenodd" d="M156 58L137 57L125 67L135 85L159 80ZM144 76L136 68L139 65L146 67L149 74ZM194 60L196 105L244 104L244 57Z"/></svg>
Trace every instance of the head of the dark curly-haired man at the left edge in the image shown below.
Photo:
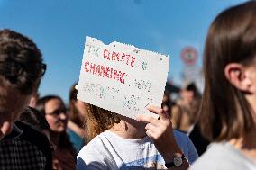
<svg viewBox="0 0 256 170"><path fill-rule="evenodd" d="M37 91L46 65L32 40L10 30L0 30L0 139Z"/></svg>

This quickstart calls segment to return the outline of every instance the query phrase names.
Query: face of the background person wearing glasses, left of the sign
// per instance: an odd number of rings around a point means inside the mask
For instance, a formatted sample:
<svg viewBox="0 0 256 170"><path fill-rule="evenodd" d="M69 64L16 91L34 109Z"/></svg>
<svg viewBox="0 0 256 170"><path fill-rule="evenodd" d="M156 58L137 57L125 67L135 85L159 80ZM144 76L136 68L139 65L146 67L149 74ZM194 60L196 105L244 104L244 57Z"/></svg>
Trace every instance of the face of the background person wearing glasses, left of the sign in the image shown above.
<svg viewBox="0 0 256 170"><path fill-rule="evenodd" d="M63 132L67 127L67 111L59 99L51 99L45 104L45 117L50 125L50 130Z"/></svg>

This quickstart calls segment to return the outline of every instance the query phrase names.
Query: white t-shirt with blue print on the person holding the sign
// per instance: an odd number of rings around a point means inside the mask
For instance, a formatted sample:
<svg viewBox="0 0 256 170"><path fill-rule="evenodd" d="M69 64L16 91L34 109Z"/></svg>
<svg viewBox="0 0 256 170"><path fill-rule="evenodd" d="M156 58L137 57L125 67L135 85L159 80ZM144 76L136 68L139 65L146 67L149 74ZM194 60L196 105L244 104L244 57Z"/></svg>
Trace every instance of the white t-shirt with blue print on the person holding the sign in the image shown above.
<svg viewBox="0 0 256 170"><path fill-rule="evenodd" d="M178 146L190 163L198 155L191 140L185 133L174 130ZM149 137L143 139L123 139L106 130L92 139L78 153L77 170L125 170L125 169L165 169L164 159Z"/></svg>

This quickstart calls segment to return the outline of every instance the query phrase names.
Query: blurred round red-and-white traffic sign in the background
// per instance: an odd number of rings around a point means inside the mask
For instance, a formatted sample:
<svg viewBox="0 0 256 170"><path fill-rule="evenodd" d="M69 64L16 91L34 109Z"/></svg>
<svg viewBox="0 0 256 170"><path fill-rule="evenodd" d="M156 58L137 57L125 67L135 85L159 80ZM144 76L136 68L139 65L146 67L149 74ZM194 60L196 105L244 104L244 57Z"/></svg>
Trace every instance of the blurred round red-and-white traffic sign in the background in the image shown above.
<svg viewBox="0 0 256 170"><path fill-rule="evenodd" d="M197 49L193 47L185 47L181 50L180 58L186 65L195 65L198 58Z"/></svg>

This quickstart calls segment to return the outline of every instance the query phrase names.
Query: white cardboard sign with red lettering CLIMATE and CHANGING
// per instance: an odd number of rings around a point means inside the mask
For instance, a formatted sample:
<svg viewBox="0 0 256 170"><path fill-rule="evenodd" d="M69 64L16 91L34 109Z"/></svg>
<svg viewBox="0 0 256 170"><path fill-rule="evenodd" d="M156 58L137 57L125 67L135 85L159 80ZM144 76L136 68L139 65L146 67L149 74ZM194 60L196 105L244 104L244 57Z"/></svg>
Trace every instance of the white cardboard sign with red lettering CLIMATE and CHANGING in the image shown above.
<svg viewBox="0 0 256 170"><path fill-rule="evenodd" d="M169 57L131 45L87 37L78 82L78 99L135 118L155 114L169 70Z"/></svg>

